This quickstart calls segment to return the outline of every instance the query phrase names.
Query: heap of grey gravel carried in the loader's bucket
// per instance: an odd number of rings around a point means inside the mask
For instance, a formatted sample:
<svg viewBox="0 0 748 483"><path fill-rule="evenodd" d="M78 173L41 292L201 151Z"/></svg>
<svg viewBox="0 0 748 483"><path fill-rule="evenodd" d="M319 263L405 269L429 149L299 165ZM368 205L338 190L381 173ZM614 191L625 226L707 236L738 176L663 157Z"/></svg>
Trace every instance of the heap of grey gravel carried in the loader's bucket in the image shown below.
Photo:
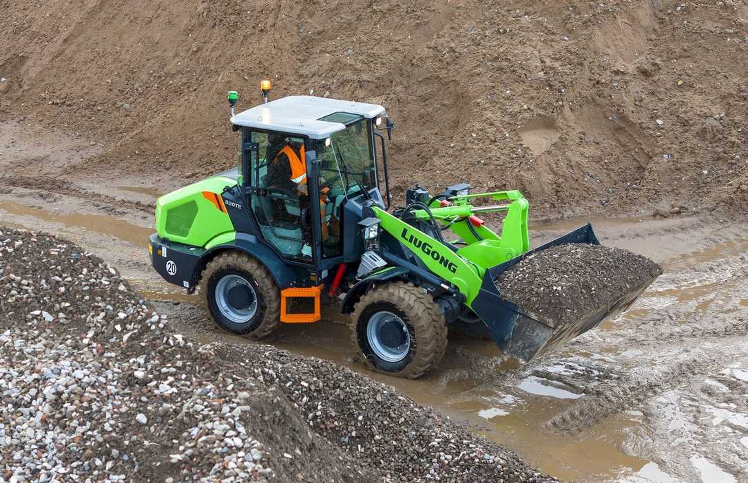
<svg viewBox="0 0 748 483"><path fill-rule="evenodd" d="M527 256L496 284L503 298L522 309L568 322L660 274L657 263L637 253L570 243Z"/></svg>

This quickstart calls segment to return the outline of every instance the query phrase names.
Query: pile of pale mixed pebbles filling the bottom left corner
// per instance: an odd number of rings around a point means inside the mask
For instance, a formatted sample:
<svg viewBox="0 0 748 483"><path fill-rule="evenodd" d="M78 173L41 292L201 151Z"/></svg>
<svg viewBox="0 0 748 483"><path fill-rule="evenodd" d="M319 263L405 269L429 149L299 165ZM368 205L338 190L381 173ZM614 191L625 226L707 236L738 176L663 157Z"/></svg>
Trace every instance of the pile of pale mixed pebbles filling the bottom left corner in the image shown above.
<svg viewBox="0 0 748 483"><path fill-rule="evenodd" d="M73 244L0 230L0 308L2 482L374 481Z"/></svg>

